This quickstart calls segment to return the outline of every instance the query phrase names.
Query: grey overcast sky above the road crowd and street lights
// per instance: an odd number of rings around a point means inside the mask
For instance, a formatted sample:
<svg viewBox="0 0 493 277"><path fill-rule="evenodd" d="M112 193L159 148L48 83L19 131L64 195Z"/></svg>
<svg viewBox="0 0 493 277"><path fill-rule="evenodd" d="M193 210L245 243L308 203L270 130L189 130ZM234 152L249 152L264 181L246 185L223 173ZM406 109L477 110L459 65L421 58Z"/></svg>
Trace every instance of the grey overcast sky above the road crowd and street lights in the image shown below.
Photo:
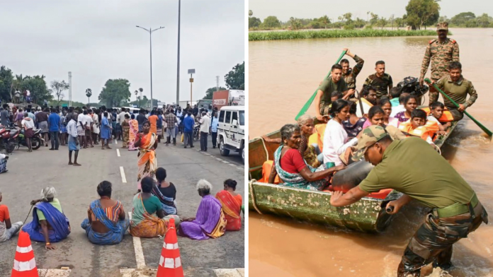
<svg viewBox="0 0 493 277"><path fill-rule="evenodd" d="M181 1L180 100L215 87L244 61L244 1ZM149 33L152 33L153 96L176 102L178 0L16 0L1 1L1 65L14 74L42 74L49 83L67 81L72 71L72 100L95 102L110 78L127 78L133 91L150 98ZM65 93L68 99L68 91Z"/></svg>

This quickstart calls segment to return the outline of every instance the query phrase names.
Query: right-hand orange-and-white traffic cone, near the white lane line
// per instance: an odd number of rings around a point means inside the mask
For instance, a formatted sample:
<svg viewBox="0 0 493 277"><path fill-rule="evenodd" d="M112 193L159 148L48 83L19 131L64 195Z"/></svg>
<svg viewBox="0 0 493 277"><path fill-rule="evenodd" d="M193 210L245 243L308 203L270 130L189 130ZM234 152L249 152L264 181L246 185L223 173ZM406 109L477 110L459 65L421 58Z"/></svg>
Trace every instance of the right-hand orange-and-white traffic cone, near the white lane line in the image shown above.
<svg viewBox="0 0 493 277"><path fill-rule="evenodd" d="M178 249L174 218L169 220L169 229L166 231L166 236L164 237L156 277L183 277L183 267L181 266L180 249Z"/></svg>

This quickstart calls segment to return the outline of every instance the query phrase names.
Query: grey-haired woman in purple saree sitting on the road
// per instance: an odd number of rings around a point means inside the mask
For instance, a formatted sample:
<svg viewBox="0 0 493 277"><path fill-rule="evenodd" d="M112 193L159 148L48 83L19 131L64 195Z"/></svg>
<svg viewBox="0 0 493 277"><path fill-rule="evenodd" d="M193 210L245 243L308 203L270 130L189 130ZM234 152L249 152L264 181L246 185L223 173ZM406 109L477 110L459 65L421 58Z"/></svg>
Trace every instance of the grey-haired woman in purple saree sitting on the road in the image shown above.
<svg viewBox="0 0 493 277"><path fill-rule="evenodd" d="M221 202L210 195L212 184L205 179L197 183L198 195L202 197L196 218L183 218L178 235L193 240L208 240L225 234L227 221L222 211Z"/></svg>

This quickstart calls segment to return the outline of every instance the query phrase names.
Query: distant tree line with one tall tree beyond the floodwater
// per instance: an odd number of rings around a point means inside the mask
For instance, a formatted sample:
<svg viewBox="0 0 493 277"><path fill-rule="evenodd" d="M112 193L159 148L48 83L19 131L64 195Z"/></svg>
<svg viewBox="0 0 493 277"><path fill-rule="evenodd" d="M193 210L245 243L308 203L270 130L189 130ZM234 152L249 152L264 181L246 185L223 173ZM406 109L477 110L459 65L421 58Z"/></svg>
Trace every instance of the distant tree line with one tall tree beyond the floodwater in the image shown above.
<svg viewBox="0 0 493 277"><path fill-rule="evenodd" d="M443 2L445 3L445 2ZM364 16L363 16L364 17ZM440 16L440 5L436 0L409 0L406 13L402 16L390 16L385 18L368 11L366 18L354 17L352 13L344 13L337 18L322 16L319 18L290 18L288 21L280 21L276 16L268 16L261 20L249 11L249 30L306 30L306 29L383 29L400 28L411 30L426 30L438 22L448 22L450 27L460 28L493 28L493 18L483 13L476 16L471 12L459 13L452 18ZM370 33L369 33L370 34Z"/></svg>

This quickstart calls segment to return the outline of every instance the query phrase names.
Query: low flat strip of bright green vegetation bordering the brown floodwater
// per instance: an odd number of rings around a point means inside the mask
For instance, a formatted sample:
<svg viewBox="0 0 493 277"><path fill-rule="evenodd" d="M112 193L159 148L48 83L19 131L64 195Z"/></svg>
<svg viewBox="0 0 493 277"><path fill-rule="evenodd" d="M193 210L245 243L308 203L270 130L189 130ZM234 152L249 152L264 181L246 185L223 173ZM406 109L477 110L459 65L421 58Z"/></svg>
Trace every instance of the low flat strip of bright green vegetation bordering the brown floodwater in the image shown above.
<svg viewBox="0 0 493 277"><path fill-rule="evenodd" d="M450 34L450 33L449 33ZM307 30L307 31L271 31L250 32L249 41L257 40L304 40L309 38L337 37L409 37L436 35L435 30Z"/></svg>

